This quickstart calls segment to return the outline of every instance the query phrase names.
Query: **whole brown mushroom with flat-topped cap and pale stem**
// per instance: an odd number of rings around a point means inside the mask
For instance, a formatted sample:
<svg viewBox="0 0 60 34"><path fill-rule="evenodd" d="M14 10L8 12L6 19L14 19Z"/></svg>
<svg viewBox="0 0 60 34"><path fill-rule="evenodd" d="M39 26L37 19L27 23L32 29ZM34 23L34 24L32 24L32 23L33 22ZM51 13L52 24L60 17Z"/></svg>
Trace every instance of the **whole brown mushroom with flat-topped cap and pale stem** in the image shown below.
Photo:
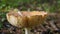
<svg viewBox="0 0 60 34"><path fill-rule="evenodd" d="M6 14L8 22L16 27L23 27L25 29L25 34L29 34L29 30L32 27L40 25L44 22L47 16L47 12L39 11L10 11ZM31 34L31 33L30 33Z"/></svg>

